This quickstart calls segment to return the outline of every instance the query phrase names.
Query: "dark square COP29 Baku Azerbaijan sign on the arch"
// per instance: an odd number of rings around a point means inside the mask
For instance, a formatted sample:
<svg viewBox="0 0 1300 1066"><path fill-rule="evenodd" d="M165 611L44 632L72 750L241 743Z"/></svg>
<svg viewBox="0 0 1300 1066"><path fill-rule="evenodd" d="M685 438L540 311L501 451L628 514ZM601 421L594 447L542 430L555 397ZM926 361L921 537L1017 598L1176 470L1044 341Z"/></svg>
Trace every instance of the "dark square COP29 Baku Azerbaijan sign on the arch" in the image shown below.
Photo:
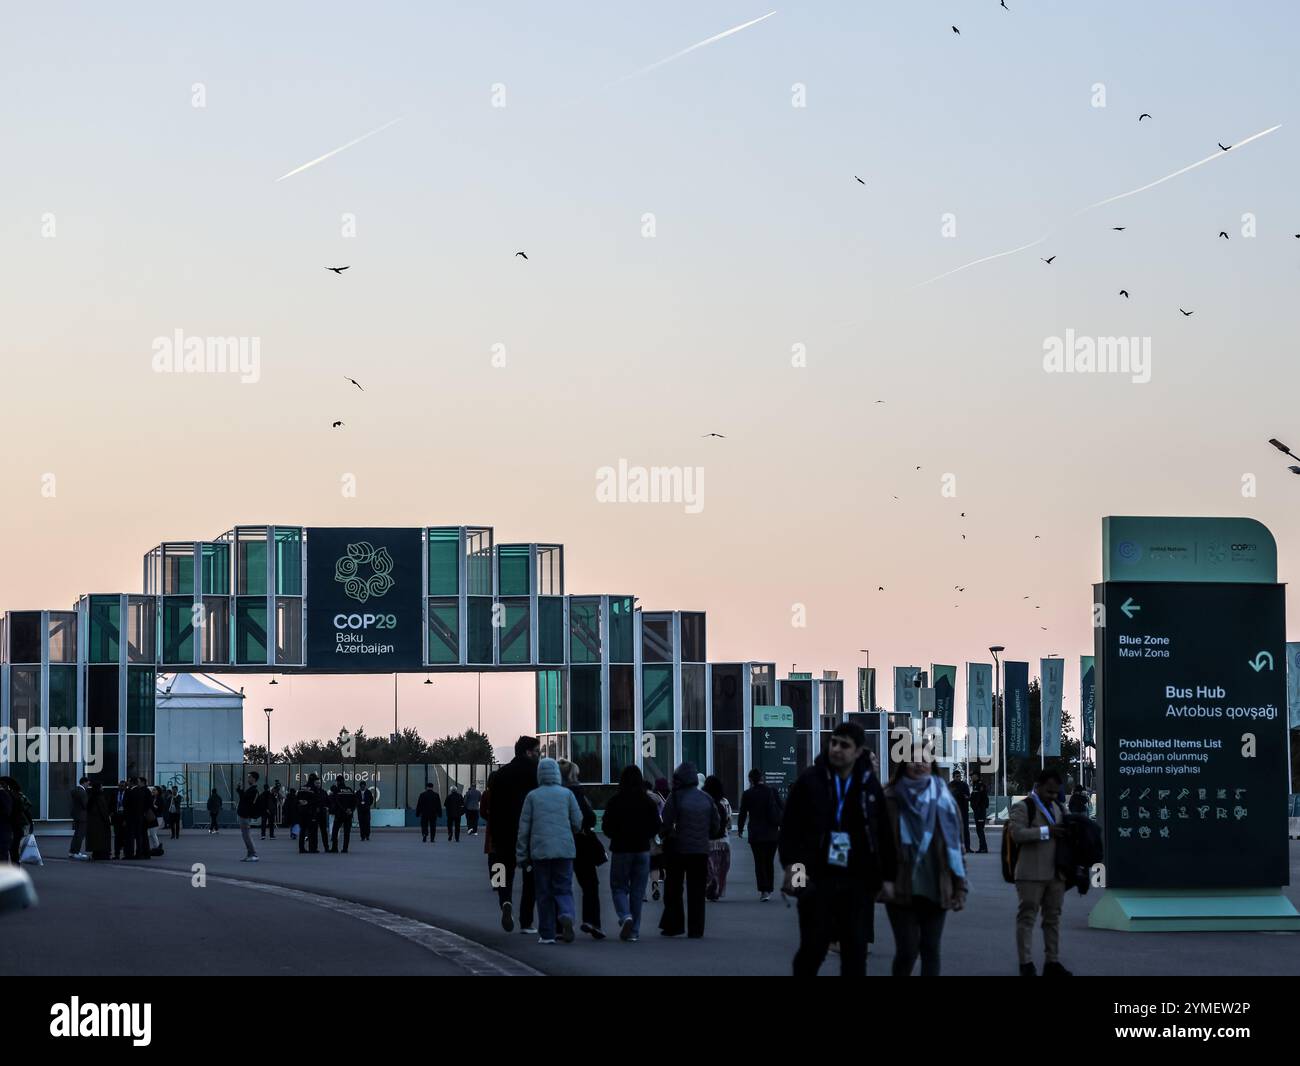
<svg viewBox="0 0 1300 1066"><path fill-rule="evenodd" d="M421 668L419 529L307 530L307 670Z"/></svg>

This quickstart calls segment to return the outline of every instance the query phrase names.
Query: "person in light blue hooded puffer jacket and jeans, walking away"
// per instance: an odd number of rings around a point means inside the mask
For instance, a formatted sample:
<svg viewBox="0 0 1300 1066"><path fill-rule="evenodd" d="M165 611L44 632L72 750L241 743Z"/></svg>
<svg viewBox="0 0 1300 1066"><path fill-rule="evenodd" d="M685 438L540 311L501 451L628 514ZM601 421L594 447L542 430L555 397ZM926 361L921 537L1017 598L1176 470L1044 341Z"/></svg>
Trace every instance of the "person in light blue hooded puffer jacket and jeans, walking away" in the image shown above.
<svg viewBox="0 0 1300 1066"><path fill-rule="evenodd" d="M556 935L566 944L573 942L575 836L581 831L582 810L564 788L559 763L540 759L537 788L524 798L515 841L515 861L533 868L538 944L554 944Z"/></svg>

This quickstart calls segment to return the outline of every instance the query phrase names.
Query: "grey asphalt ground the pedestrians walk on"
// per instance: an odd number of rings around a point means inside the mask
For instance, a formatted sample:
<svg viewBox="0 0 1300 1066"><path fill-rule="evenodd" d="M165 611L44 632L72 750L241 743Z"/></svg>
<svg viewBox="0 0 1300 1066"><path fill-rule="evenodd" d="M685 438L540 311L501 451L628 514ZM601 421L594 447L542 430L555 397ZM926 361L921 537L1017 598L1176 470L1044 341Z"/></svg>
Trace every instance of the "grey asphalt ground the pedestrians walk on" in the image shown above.
<svg viewBox="0 0 1300 1066"><path fill-rule="evenodd" d="M993 853L971 855L971 896L950 915L944 933L944 972L996 976L1015 972L1015 893L1002 881ZM256 841L261 862L239 862L238 832L208 836L187 831L164 840L166 854L148 862L73 863L61 855L66 838L43 841L47 864L27 867L40 904L0 916L0 974L429 974L467 971L410 935L348 910L333 910L292 894L268 894L237 879L285 885L313 898L355 901L391 916L467 937L545 974L590 975L785 975L798 941L796 913L777 897L758 902L749 845L733 837L727 898L710 904L703 940L658 935L660 905L647 902L642 937L618 940L608 896L608 867L601 867L601 907L610 937L578 935L572 945L540 945L533 936L500 928L488 885L482 837L459 844L421 844L415 829L376 829L350 854L298 854L287 833ZM192 863L204 863L209 883L192 888ZM166 874L162 871L173 871ZM1300 905L1300 841L1291 842L1287 894ZM576 887L575 887L576 888ZM516 881L516 906L519 884ZM1297 933L1118 933L1087 927L1100 893L1071 893L1066 901L1062 958L1079 975L1295 975ZM382 915L378 919L385 922ZM400 926L396 918L393 919ZM415 923L407 923L413 926ZM433 931L430 931L433 935ZM1041 940L1037 941L1041 952ZM884 910L876 910L876 946L870 974L888 974L893 942ZM1040 956L1041 959L1041 956ZM472 962L472 959L471 959ZM829 957L823 972L835 972Z"/></svg>

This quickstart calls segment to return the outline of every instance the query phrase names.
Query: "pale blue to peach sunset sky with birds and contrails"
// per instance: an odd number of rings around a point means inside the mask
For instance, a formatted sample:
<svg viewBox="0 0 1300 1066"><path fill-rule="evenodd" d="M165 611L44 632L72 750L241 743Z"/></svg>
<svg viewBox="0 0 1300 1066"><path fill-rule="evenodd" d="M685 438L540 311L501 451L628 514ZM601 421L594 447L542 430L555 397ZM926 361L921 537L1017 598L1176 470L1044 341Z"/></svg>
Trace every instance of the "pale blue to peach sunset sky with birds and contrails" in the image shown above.
<svg viewBox="0 0 1300 1066"><path fill-rule="evenodd" d="M240 523L488 524L707 611L714 660L1002 644L1076 712L1104 515L1248 515L1300 576L1300 9L1009 6L783 5L646 73L772 8L12 8L0 610ZM260 380L156 373L178 329ZM1066 330L1150 381L1045 373ZM702 467L702 510L599 502L619 460ZM472 675L422 680L403 725L473 724ZM244 684L250 741L391 724L391 677ZM494 744L532 698L484 679Z"/></svg>

